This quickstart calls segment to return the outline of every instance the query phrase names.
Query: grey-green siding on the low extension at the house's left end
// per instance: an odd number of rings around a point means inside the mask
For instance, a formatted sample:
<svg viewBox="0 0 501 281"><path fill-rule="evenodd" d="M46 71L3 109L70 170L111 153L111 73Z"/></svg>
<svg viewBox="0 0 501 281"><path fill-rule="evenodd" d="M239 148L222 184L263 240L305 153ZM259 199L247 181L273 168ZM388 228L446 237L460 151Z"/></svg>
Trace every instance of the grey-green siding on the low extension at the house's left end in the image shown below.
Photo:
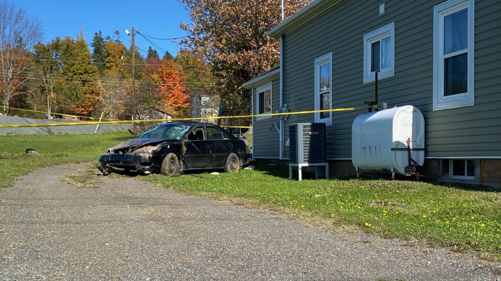
<svg viewBox="0 0 501 281"><path fill-rule="evenodd" d="M268 81L267 81L268 82ZM253 89L254 108L256 112L256 87ZM272 113L280 107L280 78L272 80ZM258 120L254 119L253 127L253 155L255 158L279 158L280 157L280 135L273 123L279 123L279 116Z"/></svg>

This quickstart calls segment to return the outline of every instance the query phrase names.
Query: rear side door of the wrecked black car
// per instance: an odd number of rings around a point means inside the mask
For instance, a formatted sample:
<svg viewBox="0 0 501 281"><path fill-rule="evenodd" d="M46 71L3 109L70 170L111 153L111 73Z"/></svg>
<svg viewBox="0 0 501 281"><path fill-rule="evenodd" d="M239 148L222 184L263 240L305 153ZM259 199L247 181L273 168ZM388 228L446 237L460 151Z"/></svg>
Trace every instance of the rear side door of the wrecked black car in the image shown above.
<svg viewBox="0 0 501 281"><path fill-rule="evenodd" d="M213 167L223 167L233 148L233 141L218 127L207 125L206 128L210 141L210 162Z"/></svg>

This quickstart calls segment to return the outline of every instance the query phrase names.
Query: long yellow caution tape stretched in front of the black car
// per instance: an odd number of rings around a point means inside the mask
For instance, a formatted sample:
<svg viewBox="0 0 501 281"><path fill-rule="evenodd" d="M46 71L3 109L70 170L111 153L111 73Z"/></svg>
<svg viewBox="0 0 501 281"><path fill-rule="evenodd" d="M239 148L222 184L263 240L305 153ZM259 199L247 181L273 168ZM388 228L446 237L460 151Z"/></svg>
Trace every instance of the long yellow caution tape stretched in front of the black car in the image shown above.
<svg viewBox="0 0 501 281"><path fill-rule="evenodd" d="M42 124L16 124L16 125L0 125L0 128L18 128L18 127L52 127L52 126L75 126L75 125L96 125L96 124L126 124L126 123L142 123L142 122L165 122L165 121L192 121L200 119L224 119L224 118L247 118L247 117L261 117L261 116L279 116L279 115L294 115L294 114L307 114L315 112L329 112L329 111L343 111L355 109L377 108L377 105L359 106L359 107L344 107L335 109L323 110L308 110L296 112L283 112L283 113L267 113L267 114L253 114L253 115L239 115L239 116L216 116L216 117L199 117L199 118L172 118L172 119L153 119L153 120L121 120L121 121L93 121L93 122L70 122L70 123L42 123Z"/></svg>

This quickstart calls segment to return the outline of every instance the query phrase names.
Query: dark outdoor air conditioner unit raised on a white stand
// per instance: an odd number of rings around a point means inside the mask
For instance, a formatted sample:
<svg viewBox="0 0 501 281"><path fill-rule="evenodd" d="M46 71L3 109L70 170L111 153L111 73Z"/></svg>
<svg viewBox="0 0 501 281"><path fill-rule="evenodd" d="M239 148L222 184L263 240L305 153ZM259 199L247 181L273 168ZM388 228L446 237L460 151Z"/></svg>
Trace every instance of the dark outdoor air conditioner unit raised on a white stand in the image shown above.
<svg viewBox="0 0 501 281"><path fill-rule="evenodd" d="M289 125L291 163L326 162L325 123Z"/></svg>

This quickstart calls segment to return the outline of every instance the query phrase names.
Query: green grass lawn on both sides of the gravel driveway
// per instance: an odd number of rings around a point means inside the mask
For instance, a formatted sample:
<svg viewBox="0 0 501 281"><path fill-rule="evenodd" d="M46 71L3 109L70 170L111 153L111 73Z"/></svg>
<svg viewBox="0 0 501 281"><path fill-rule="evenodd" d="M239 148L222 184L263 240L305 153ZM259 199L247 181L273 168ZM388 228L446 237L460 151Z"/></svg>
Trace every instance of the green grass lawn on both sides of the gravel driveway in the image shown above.
<svg viewBox="0 0 501 281"><path fill-rule="evenodd" d="M127 133L0 136L0 187L36 168L94 162ZM40 154L27 154L33 148ZM12 154L12 156L11 156ZM12 159L6 159L12 158ZM179 192L267 208L331 231L364 231L432 245L472 249L501 261L501 193L471 186L382 179L289 180L287 167L257 162L255 170L211 175L141 176Z"/></svg>

